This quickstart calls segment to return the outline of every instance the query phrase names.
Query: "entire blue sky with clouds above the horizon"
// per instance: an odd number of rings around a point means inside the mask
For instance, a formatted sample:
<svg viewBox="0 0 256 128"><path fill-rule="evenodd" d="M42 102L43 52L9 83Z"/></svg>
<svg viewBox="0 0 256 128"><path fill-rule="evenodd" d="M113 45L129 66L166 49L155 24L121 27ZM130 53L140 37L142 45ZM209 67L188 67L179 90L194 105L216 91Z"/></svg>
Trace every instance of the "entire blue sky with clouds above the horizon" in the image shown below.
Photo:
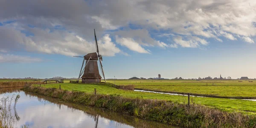
<svg viewBox="0 0 256 128"><path fill-rule="evenodd" d="M256 78L255 0L0 0L0 78Z"/></svg>

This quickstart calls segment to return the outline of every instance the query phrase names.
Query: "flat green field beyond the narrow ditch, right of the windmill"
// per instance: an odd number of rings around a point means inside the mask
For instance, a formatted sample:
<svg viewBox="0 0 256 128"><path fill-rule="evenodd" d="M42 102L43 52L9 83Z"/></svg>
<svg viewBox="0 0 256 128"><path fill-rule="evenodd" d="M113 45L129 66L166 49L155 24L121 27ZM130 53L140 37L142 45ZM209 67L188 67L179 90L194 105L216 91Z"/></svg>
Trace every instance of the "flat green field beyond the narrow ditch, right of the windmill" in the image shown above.
<svg viewBox="0 0 256 128"><path fill-rule="evenodd" d="M114 83L113 80L108 82ZM193 93L199 96L256 99L256 81L116 80L115 83L117 85L134 84L135 88L160 92Z"/></svg>

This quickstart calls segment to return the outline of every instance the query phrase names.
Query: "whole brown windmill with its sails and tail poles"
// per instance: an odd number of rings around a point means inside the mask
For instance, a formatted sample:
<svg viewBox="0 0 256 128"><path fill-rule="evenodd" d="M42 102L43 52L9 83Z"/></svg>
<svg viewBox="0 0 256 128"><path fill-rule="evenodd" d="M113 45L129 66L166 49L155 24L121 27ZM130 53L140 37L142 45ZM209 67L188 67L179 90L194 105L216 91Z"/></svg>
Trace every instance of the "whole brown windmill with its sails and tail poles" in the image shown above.
<svg viewBox="0 0 256 128"><path fill-rule="evenodd" d="M88 53L87 55L84 55L84 57L74 56L74 57L84 58L82 67L79 73L79 77L78 77L78 81L80 78L82 78L82 83L101 82L102 77L99 74L99 67L102 72L102 76L106 82L103 67L102 67L102 55L99 54L99 47L98 47L95 29L94 29L94 37L95 37L96 52ZM99 67L98 67L98 61L99 61Z"/></svg>

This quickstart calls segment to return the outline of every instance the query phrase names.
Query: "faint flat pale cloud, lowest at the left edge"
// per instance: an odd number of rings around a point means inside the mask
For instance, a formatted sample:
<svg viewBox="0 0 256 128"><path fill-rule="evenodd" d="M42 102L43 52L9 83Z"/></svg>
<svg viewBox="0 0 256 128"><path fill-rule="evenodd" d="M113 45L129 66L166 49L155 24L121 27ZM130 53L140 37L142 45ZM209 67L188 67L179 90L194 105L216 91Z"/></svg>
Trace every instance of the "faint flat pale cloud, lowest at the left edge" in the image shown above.
<svg viewBox="0 0 256 128"><path fill-rule="evenodd" d="M33 63L41 62L40 58L32 58L29 56L20 56L20 55L10 55L10 54L0 54L0 63Z"/></svg>

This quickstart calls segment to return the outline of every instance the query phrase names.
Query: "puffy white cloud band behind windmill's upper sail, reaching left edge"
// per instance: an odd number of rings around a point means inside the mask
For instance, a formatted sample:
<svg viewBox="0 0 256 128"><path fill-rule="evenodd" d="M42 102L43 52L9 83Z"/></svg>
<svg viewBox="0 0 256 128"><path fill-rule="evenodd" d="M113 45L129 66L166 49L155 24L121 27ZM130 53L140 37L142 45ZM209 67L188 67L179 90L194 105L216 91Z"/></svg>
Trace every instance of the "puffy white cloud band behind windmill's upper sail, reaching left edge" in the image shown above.
<svg viewBox="0 0 256 128"><path fill-rule="evenodd" d="M3 45L4 48L22 45L30 52L67 56L86 55L90 52L96 52L94 41L87 41L79 35L67 31L55 30L50 32L49 29L31 28L29 30L33 32L35 36L27 37L25 34L12 27L0 27L0 31L1 30L7 33L2 36L9 36L9 34L15 35L5 38L6 45ZM116 53L120 52L120 49L111 41L108 34L98 39L98 43L100 54L104 56L114 56Z"/></svg>

